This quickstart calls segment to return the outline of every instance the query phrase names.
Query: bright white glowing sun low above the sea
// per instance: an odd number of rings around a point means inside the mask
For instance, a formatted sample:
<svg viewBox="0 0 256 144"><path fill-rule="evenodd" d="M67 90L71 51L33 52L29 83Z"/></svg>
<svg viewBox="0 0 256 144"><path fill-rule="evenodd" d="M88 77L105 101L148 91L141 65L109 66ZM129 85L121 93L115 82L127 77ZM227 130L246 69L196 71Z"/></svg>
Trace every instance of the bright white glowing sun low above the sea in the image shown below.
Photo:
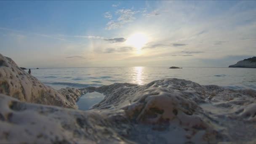
<svg viewBox="0 0 256 144"><path fill-rule="evenodd" d="M141 48L147 43L148 37L143 33L135 33L127 38L126 43L141 51Z"/></svg>

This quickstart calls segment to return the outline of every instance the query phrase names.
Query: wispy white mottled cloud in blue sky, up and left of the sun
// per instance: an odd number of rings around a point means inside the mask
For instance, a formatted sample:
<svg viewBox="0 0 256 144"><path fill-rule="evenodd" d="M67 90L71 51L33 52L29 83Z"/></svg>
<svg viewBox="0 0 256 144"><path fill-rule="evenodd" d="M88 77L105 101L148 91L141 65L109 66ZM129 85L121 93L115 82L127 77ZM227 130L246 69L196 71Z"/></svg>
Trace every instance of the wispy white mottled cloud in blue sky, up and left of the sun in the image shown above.
<svg viewBox="0 0 256 144"><path fill-rule="evenodd" d="M106 30L117 29L123 27L123 24L134 21L136 18L133 16L139 11L132 11L130 9L120 9L115 11L116 14L120 14L117 20L108 21Z"/></svg>

